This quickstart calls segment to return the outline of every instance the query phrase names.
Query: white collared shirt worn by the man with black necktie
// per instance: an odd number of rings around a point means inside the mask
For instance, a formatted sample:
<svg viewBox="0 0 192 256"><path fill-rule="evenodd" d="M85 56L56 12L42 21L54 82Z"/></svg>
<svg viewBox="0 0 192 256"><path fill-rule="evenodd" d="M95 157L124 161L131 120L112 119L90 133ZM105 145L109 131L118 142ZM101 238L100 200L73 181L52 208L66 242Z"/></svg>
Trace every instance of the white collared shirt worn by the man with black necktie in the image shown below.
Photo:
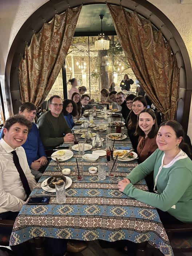
<svg viewBox="0 0 192 256"><path fill-rule="evenodd" d="M26 193L19 172L13 162L12 151L3 139L0 140L0 213L19 212L26 199ZM23 147L15 149L19 163L27 177L31 191L36 185L35 177L31 174Z"/></svg>

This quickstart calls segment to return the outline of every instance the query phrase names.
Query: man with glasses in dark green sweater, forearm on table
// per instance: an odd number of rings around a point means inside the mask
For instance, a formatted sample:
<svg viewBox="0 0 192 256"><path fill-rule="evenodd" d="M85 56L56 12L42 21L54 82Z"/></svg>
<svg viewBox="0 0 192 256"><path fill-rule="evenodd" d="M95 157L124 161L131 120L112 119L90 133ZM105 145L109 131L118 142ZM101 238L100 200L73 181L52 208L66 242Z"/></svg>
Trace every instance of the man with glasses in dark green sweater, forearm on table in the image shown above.
<svg viewBox="0 0 192 256"><path fill-rule="evenodd" d="M63 142L74 140L62 113L63 102L60 96L53 95L49 99L50 111L44 113L37 120L41 141L45 149L55 148Z"/></svg>

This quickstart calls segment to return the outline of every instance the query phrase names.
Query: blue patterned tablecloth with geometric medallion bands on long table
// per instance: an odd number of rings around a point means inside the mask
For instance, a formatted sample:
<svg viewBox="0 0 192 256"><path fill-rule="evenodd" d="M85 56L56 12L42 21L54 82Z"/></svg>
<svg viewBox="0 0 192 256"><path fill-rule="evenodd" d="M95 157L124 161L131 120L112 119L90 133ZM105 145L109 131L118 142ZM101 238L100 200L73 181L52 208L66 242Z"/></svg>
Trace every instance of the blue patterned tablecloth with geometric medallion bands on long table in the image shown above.
<svg viewBox="0 0 192 256"><path fill-rule="evenodd" d="M107 121L96 118L94 122L106 124ZM74 129L81 128L76 125ZM122 132L126 130L124 127ZM112 132L115 132L115 129L112 129ZM100 134L105 139L106 133ZM127 138L116 141L115 147L118 145L131 146L131 142ZM105 148L105 140L103 148ZM95 149L91 149L93 150ZM172 248L156 208L124 195L117 188L118 181L132 171L137 165L137 160L118 161L116 176L113 178L106 176L103 181L97 179L97 173L88 172L88 168L96 166L97 163L84 162L84 179L76 181L75 157L78 161L83 161L78 151L74 151L71 159L60 163L61 169L65 167L71 169L69 176L73 181L71 187L66 190L66 203L58 205L56 197L51 197L48 205L25 204L15 221L10 245L23 243L37 236L84 241L102 239L111 242L126 239L135 243L148 241L159 248L164 255L172 256ZM107 161L106 156L99 157L99 161ZM57 170L56 162L52 160L31 196L48 194L41 188L41 183L49 176L57 174L61 172ZM135 186L143 190L148 189L144 180L139 181Z"/></svg>

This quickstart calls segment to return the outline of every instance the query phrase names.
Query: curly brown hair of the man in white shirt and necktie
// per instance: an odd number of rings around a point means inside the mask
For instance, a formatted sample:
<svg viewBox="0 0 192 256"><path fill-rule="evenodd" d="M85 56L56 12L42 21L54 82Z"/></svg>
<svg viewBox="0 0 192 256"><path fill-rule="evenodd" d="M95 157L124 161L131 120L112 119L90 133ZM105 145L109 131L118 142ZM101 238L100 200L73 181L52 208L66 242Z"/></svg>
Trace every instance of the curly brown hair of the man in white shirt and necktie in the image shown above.
<svg viewBox="0 0 192 256"><path fill-rule="evenodd" d="M25 125L27 126L28 128L28 132L31 130L32 128L32 123L27 120L26 117L24 117L24 115L20 115L20 114L16 114L14 116L10 116L6 121L5 121L5 125L4 125L4 128L7 129L7 131L9 131L10 127L13 125L13 124L16 124L16 123L19 123L21 125ZM4 129L3 128L3 129ZM4 137L4 133L3 133L3 136L2 138Z"/></svg>

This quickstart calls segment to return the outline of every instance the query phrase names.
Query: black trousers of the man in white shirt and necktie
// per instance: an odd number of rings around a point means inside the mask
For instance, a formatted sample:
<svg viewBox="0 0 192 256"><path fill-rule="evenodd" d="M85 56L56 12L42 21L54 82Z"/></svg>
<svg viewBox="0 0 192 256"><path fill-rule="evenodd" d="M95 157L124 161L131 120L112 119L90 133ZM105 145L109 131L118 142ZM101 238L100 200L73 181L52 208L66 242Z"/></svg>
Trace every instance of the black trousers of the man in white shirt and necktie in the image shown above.
<svg viewBox="0 0 192 256"><path fill-rule="evenodd" d="M19 212L3 212L0 213L1 220L15 220ZM0 233L4 235L11 235L12 228L0 228ZM48 255L63 256L67 250L67 239L45 237L45 248ZM11 249L17 256L32 256L28 243L11 246Z"/></svg>

